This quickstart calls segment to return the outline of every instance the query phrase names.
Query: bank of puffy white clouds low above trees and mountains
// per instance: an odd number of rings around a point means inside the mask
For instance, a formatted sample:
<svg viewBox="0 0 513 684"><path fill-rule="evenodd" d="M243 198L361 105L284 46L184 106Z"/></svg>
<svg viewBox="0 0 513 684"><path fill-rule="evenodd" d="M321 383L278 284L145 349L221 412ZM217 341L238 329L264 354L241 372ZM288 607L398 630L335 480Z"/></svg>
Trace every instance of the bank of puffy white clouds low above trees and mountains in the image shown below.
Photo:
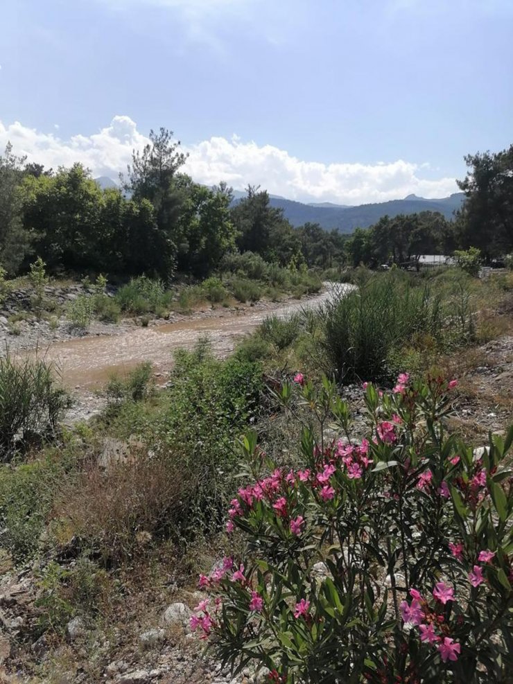
<svg viewBox="0 0 513 684"><path fill-rule="evenodd" d="M93 175L116 178L130 163L132 150L142 148L148 138L137 130L129 116L114 116L109 126L68 140L54 133L26 128L19 122L0 121L0 149L7 141L18 155L57 168L81 161ZM324 164L303 161L286 150L254 142L212 137L184 146L189 152L185 170L195 181L216 184L227 181L238 190L248 183L261 185L270 193L295 200L363 204L403 198L410 193L422 197L444 197L457 191L455 179L422 177L429 164L403 159L376 164Z"/></svg>

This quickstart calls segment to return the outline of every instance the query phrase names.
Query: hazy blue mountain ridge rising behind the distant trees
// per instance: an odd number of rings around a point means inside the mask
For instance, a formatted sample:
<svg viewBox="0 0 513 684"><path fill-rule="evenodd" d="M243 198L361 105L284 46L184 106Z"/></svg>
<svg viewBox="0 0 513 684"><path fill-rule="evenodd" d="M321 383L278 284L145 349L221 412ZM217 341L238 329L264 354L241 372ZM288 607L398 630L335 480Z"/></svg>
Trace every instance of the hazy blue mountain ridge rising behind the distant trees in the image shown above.
<svg viewBox="0 0 513 684"><path fill-rule="evenodd" d="M427 200L416 195L408 195L404 200L391 200L377 204L360 204L359 207L326 206L322 204L303 204L293 200L272 198L272 207L284 210L284 216L294 226L306 222L318 223L324 229L338 229L342 233L351 233L355 228L368 228L382 216L393 218L399 213L418 213L419 211L440 211L445 218L453 218L453 213L460 209L464 193L453 193L450 197Z"/></svg>

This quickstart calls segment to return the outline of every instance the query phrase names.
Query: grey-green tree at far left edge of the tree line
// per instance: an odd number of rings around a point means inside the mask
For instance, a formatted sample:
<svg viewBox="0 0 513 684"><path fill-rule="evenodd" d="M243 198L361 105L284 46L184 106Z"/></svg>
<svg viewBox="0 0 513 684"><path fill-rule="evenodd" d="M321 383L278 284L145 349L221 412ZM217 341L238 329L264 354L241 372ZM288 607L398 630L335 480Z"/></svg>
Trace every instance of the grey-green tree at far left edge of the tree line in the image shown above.
<svg viewBox="0 0 513 684"><path fill-rule="evenodd" d="M25 157L6 146L0 155L0 262L9 274L15 274L30 249L31 239L22 221L21 181Z"/></svg>

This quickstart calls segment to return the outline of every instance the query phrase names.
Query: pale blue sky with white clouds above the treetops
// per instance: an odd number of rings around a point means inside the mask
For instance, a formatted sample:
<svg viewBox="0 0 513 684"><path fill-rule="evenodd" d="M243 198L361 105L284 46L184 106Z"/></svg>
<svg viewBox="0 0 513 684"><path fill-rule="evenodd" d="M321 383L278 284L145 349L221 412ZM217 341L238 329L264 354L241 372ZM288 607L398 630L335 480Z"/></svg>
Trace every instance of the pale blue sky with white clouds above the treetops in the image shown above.
<svg viewBox="0 0 513 684"><path fill-rule="evenodd" d="M116 179L150 129L197 182L361 204L513 142L513 0L0 0L0 150Z"/></svg>

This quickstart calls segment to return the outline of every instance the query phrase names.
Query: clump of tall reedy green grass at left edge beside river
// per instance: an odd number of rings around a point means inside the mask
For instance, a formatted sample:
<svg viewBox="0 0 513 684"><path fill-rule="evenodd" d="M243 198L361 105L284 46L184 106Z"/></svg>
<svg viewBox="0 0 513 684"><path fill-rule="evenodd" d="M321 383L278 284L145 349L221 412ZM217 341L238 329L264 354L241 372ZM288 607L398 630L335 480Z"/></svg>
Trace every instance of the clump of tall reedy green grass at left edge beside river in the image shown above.
<svg viewBox="0 0 513 684"><path fill-rule="evenodd" d="M35 437L55 434L69 397L55 383L53 365L0 358L0 460Z"/></svg>

